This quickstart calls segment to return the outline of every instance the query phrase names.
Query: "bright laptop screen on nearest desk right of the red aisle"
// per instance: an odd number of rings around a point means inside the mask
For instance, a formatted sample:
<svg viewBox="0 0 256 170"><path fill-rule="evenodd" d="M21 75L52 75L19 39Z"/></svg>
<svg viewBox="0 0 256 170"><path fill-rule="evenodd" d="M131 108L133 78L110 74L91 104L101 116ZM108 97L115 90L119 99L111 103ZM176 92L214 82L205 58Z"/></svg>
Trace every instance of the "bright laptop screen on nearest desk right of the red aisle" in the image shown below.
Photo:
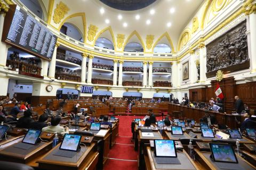
<svg viewBox="0 0 256 170"><path fill-rule="evenodd" d="M154 140L156 157L177 157L174 140Z"/></svg>

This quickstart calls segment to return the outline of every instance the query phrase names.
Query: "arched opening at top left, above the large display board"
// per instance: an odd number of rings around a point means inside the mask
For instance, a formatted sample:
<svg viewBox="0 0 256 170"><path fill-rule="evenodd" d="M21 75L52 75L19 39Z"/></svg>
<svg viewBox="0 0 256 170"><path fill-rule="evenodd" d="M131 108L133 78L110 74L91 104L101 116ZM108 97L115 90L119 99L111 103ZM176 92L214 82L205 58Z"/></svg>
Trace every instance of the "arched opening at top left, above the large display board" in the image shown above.
<svg viewBox="0 0 256 170"><path fill-rule="evenodd" d="M33 12L38 18L45 21L43 8L41 7L40 0L20 0L31 12Z"/></svg>

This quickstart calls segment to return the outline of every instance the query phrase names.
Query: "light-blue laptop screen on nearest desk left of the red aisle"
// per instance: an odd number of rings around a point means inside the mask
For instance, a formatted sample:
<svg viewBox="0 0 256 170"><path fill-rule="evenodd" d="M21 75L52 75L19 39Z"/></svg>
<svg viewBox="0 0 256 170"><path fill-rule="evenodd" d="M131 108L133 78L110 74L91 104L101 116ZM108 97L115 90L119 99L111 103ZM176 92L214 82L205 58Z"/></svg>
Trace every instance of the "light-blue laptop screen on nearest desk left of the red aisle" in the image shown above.
<svg viewBox="0 0 256 170"><path fill-rule="evenodd" d="M66 133L63 137L63 141L61 142L60 149L77 151L81 137L81 135Z"/></svg>

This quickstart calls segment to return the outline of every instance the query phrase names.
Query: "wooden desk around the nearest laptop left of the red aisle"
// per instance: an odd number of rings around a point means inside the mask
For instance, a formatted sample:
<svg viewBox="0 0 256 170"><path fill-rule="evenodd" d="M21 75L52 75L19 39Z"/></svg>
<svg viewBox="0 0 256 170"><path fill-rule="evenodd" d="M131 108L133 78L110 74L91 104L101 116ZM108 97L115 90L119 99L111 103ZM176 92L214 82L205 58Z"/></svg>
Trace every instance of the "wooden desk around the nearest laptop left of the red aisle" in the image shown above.
<svg viewBox="0 0 256 170"><path fill-rule="evenodd" d="M37 160L38 167L42 169L94 169L99 157L99 152L94 151L95 143L90 146L81 146L81 151L77 152L77 156L66 158L53 155L60 147L60 143ZM83 152L84 151L84 152Z"/></svg>

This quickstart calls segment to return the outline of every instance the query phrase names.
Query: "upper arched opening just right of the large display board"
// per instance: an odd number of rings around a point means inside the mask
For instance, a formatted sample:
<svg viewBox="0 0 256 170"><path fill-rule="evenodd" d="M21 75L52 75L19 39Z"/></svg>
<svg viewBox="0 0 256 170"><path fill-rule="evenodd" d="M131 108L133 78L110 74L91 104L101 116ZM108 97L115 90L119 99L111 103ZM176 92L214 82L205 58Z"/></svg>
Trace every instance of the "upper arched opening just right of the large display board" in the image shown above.
<svg viewBox="0 0 256 170"><path fill-rule="evenodd" d="M68 22L65 22L61 28L60 28L60 32L71 37L74 38L75 40L81 41L83 42L83 34L81 33L81 31L74 25Z"/></svg>

